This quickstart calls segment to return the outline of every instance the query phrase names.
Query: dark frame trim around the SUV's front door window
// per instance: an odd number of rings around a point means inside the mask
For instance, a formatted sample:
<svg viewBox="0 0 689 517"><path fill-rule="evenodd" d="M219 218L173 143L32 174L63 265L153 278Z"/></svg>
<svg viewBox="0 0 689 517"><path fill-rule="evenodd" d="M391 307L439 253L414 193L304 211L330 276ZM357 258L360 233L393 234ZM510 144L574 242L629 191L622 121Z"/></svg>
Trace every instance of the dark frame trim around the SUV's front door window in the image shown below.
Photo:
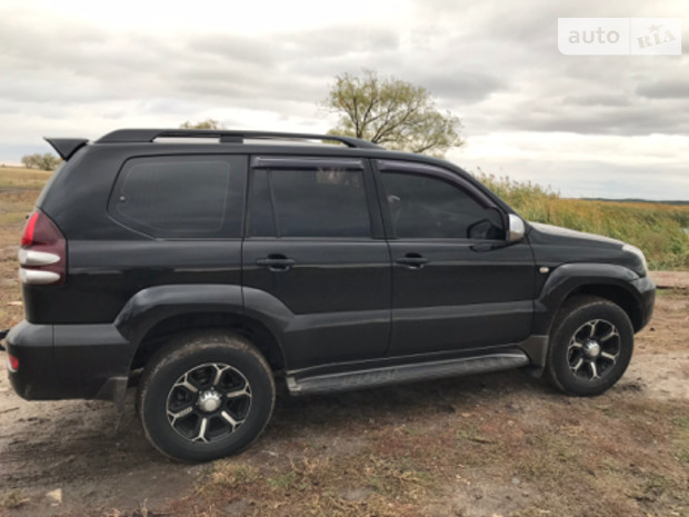
<svg viewBox="0 0 689 517"><path fill-rule="evenodd" d="M378 186L378 202L385 222L386 233L389 240L395 241L432 241L432 242L505 242L503 239L471 239L468 237L398 237L390 207L388 203L386 186L382 176L386 173L402 173L408 176L420 176L425 178L436 178L462 190L467 196L473 199L483 208L495 208L500 213L503 228L507 228L505 210L493 202L490 197L483 193L475 185L463 179L461 176L441 167L402 160L372 160L376 169L376 182Z"/></svg>

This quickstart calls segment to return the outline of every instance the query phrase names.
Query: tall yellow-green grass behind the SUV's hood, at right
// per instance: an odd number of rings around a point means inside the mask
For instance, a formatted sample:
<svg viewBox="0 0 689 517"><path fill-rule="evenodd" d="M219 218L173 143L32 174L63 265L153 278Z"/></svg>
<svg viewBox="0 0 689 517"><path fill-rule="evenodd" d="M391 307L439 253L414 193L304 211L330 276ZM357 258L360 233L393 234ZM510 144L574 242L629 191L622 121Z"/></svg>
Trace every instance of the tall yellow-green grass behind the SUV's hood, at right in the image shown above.
<svg viewBox="0 0 689 517"><path fill-rule="evenodd" d="M689 207L565 199L531 182L482 172L477 178L529 221L623 240L643 251L650 269L689 269Z"/></svg>

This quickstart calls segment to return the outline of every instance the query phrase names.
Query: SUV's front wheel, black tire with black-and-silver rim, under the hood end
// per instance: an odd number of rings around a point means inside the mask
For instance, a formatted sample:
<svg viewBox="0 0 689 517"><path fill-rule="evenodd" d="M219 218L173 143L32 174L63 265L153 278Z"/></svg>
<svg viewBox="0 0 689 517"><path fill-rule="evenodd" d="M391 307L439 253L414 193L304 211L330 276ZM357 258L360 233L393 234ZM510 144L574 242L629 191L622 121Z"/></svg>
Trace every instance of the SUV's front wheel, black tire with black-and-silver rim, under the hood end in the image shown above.
<svg viewBox="0 0 689 517"><path fill-rule="evenodd" d="M625 374L633 350L633 327L616 304L597 297L567 301L552 326L546 376L578 397L600 395Z"/></svg>

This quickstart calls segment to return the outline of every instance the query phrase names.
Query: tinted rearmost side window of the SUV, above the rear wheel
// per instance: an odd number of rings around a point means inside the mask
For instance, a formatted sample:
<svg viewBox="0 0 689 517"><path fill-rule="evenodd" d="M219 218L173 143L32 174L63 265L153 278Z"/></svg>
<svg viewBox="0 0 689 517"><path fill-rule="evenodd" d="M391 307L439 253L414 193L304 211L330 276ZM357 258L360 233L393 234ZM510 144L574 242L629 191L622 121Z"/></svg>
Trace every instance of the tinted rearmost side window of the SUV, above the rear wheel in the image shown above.
<svg viewBox="0 0 689 517"><path fill-rule="evenodd" d="M240 237L244 185L244 157L133 158L118 177L109 210L152 237Z"/></svg>

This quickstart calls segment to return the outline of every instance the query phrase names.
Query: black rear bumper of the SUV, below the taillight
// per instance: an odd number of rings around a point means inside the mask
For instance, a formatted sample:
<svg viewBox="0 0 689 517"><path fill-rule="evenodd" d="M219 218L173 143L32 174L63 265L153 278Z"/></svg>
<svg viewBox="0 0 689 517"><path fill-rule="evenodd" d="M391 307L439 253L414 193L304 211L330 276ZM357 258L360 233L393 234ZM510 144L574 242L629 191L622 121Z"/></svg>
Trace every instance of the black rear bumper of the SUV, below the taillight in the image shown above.
<svg viewBox="0 0 689 517"><path fill-rule="evenodd" d="M118 399L127 386L131 346L112 325L33 325L22 321L7 337L19 359L8 369L27 400Z"/></svg>

